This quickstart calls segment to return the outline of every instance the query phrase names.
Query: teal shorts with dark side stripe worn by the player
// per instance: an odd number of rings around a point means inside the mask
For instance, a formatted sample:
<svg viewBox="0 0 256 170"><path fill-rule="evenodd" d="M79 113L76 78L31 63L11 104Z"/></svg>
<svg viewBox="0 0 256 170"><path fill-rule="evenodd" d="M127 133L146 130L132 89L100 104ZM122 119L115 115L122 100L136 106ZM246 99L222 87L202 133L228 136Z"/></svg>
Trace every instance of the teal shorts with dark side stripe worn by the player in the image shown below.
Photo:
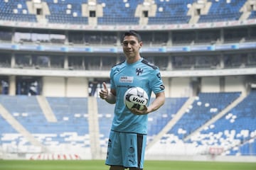
<svg viewBox="0 0 256 170"><path fill-rule="evenodd" d="M146 135L129 132L110 132L106 164L143 169Z"/></svg>

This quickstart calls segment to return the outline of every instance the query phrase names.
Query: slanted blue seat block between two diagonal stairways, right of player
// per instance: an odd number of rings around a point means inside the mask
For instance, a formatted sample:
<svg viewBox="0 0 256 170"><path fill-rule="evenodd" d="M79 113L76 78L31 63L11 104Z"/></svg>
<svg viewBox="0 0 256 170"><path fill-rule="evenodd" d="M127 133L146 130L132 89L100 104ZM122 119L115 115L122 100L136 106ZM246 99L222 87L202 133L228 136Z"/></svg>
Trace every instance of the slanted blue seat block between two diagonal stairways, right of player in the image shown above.
<svg viewBox="0 0 256 170"><path fill-rule="evenodd" d="M191 132L210 120L210 118L213 118L214 115L222 111L239 96L240 92L198 94L198 100L193 102L191 109L178 120L169 133L176 134L182 140L186 135L191 134ZM184 133L180 133L180 129Z"/></svg>

